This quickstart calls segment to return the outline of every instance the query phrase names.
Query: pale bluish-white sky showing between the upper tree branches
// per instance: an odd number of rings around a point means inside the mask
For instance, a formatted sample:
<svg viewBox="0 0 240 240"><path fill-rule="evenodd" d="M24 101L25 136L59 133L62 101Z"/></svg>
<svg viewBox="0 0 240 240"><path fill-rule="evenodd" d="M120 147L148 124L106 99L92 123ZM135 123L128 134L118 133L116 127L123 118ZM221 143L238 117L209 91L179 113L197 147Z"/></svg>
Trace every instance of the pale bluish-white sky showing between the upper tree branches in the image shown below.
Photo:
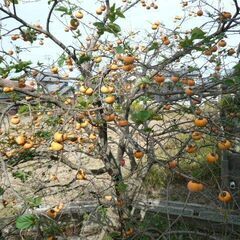
<svg viewBox="0 0 240 240"><path fill-rule="evenodd" d="M22 17L25 21L36 24L40 23L41 25L45 26L47 14L49 12L49 5L47 4L47 0L38 0L38 1L32 1L32 0L19 0L21 1L20 4L17 5L17 13L20 17ZM81 6L83 9L87 9L91 13L95 13L95 10L97 7L100 6L99 1L92 1L92 0L83 0L78 1L79 6ZM110 1L110 3L116 2L117 6L124 5L125 3L122 3L120 0ZM149 1L150 2L150 1ZM164 24L167 28L172 29L176 27L180 21L174 21L175 16L184 16L185 13L182 10L182 1L180 0L159 0L157 1L158 9L157 10L147 10L146 8L143 8L141 5L135 6L133 9L128 11L126 13L125 19L120 19L117 21L117 23L122 27L124 32L137 32L141 31L140 36L144 37L146 36L146 32L153 32L151 30L151 24L155 21L160 21L162 24ZM232 10L232 1L229 0L212 0L207 1L210 5L213 5L217 8L222 8L225 11L231 11ZM198 2L195 1L195 6L198 6ZM194 9L202 9L204 11L203 17L195 17L191 18L191 20L186 20L184 25L182 26L182 31L189 30L191 28L194 28L196 26L201 26L201 24L206 20L207 11L206 9L209 9L204 4L200 4L197 8ZM0 13L1 17L3 16L2 13ZM102 19L102 16L99 16L99 18ZM69 18L68 18L69 19ZM64 18L61 19L64 22ZM92 18L89 14L86 14L84 12L84 18L83 22L89 26L92 26ZM96 21L96 20L94 20ZM67 22L66 22L67 23ZM3 27L9 29L11 27L16 26L15 22L11 20L4 21L2 23ZM87 30L83 26L81 27L81 33L83 34L83 37L86 37ZM51 22L51 31L52 33L65 42L65 45L72 44L72 37L71 33L64 32L64 26L62 24L59 24L59 21L56 16L52 17ZM231 40L229 39L229 44L234 45L238 41L237 37L233 37ZM14 45L17 44L21 47L27 47L28 52L26 54L23 54L22 56L24 59L31 59L33 61L44 61L47 63L51 63L56 56L59 56L62 51L57 48L54 44L52 44L51 40L44 39L44 45L31 45L30 43L24 43L24 45L21 43L21 40L17 40L16 42L11 43L9 39L3 39L1 42L2 48L7 51L8 49L13 49ZM76 43L78 44L78 43Z"/></svg>

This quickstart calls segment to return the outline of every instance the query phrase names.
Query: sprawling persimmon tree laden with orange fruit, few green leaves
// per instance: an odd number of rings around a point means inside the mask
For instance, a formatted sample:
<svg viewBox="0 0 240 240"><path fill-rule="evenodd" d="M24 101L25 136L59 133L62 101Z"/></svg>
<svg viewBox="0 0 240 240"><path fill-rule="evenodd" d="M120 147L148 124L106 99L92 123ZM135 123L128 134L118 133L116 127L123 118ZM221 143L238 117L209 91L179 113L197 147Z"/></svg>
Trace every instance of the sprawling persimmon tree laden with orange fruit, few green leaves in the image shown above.
<svg viewBox="0 0 240 240"><path fill-rule="evenodd" d="M1 3L4 207L13 199L21 213L50 205L47 222L70 201L95 199L114 209L110 232L137 237L144 232L131 227L129 209L147 197L144 181L156 165L168 183L173 176L186 181L187 201L191 192L209 190L214 197L203 195L215 205L234 201L212 168L222 151L239 150L240 6L230 2L179 1L183 16L174 27L159 15L130 33L124 31L129 17L141 8L160 11L161 3L106 0L88 9L79 1L49 0L40 23L19 13L30 3ZM33 47L56 54L44 62ZM212 182L187 165L204 167ZM42 221L26 216L18 217L17 228Z"/></svg>

